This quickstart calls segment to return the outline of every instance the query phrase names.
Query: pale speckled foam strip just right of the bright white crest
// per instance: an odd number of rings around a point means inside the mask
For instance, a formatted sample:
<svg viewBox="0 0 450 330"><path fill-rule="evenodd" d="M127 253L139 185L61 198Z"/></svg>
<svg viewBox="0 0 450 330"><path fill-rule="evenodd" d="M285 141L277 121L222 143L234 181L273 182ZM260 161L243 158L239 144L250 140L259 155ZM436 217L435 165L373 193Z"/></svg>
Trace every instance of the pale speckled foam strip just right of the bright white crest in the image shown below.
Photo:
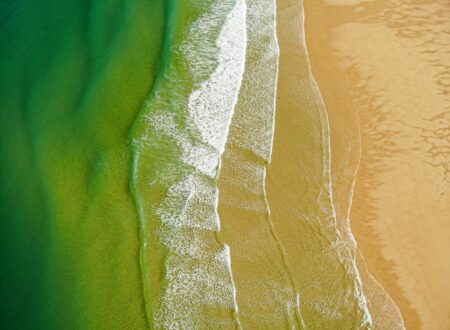
<svg viewBox="0 0 450 330"><path fill-rule="evenodd" d="M248 0L246 74L233 118L229 143L270 160L275 126L279 47L275 31L275 2Z"/></svg>

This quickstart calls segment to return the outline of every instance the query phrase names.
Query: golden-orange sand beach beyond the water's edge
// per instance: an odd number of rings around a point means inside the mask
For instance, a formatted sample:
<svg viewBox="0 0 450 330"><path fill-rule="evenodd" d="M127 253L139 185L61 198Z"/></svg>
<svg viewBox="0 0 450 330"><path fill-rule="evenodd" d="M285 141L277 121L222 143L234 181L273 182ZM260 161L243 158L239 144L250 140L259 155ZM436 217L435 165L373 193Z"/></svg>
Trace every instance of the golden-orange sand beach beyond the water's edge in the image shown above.
<svg viewBox="0 0 450 330"><path fill-rule="evenodd" d="M448 329L450 3L307 0L305 11L337 199L361 157L358 246L407 328Z"/></svg>

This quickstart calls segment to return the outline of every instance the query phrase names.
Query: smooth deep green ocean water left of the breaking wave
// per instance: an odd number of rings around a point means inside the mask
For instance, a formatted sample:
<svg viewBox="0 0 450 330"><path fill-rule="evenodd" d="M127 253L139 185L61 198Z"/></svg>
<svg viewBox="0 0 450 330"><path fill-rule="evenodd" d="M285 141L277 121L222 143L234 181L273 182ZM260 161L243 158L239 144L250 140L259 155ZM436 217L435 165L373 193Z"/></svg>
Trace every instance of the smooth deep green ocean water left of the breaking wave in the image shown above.
<svg viewBox="0 0 450 330"><path fill-rule="evenodd" d="M147 327L130 134L169 1L2 1L1 327Z"/></svg>

